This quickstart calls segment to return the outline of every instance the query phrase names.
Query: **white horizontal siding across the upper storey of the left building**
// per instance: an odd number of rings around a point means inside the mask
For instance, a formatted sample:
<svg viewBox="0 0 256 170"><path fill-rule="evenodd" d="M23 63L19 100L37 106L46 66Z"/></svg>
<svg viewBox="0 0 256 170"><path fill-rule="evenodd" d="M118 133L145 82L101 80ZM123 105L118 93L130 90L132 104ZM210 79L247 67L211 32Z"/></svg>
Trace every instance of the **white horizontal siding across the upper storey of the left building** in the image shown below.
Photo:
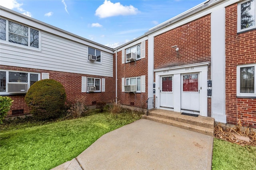
<svg viewBox="0 0 256 170"><path fill-rule="evenodd" d="M39 52L1 44L1 64L113 77L111 53L101 51L101 64L91 63L85 57L88 55L86 45L44 31L41 46Z"/></svg>

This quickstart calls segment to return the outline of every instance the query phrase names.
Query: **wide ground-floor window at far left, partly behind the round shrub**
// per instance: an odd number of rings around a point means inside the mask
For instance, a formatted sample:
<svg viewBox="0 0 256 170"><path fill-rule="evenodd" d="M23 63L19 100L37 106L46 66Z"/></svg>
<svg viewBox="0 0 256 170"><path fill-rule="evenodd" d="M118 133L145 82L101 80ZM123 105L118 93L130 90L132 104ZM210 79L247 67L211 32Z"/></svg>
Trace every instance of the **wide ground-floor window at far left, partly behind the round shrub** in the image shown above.
<svg viewBox="0 0 256 170"><path fill-rule="evenodd" d="M32 72L16 72L1 70L0 71L0 92L1 94L26 92L32 84L40 80L40 73ZM26 87L25 91L20 91L19 88ZM9 89L8 89L9 88Z"/></svg>

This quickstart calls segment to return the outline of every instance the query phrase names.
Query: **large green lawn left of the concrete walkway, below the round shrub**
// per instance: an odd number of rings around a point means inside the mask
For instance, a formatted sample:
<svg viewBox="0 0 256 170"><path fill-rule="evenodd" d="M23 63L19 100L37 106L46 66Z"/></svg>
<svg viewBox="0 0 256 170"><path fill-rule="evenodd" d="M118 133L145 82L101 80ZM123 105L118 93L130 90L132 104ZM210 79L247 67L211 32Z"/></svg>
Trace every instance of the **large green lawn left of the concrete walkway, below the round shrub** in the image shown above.
<svg viewBox="0 0 256 170"><path fill-rule="evenodd" d="M78 156L105 133L140 119L136 113L98 113L78 119L1 126L3 170L48 170Z"/></svg>

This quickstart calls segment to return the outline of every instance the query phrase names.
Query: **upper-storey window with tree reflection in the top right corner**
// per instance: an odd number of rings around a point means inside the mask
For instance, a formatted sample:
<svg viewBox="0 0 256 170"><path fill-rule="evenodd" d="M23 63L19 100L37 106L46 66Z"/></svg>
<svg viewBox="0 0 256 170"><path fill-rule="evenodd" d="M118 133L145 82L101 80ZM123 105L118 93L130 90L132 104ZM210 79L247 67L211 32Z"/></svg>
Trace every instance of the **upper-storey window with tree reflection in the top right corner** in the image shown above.
<svg viewBox="0 0 256 170"><path fill-rule="evenodd" d="M246 31L256 28L255 14L256 3L255 0L247 0L238 4L238 32Z"/></svg>

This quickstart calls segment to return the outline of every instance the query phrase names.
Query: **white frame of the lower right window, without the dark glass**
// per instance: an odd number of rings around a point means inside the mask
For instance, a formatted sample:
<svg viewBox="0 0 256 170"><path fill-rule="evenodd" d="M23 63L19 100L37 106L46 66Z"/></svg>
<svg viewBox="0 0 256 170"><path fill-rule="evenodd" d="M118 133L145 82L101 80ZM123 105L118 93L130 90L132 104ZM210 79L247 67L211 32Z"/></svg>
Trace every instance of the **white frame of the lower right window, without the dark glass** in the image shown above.
<svg viewBox="0 0 256 170"><path fill-rule="evenodd" d="M254 66L254 93L240 92L240 68ZM256 98L256 64L239 65L236 68L236 96L238 98Z"/></svg>

